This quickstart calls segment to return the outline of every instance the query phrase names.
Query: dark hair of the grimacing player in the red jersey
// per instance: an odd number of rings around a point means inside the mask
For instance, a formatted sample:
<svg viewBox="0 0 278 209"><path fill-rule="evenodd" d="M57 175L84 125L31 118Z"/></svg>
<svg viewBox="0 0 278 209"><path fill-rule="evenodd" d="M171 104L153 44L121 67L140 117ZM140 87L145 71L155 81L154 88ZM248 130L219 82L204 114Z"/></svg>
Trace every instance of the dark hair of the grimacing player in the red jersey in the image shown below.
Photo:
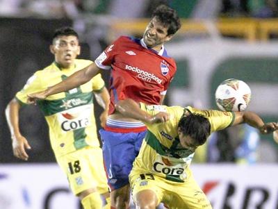
<svg viewBox="0 0 278 209"><path fill-rule="evenodd" d="M167 35L176 33L181 28L181 21L177 11L162 4L152 13L152 18L156 17L159 22L168 27Z"/></svg>

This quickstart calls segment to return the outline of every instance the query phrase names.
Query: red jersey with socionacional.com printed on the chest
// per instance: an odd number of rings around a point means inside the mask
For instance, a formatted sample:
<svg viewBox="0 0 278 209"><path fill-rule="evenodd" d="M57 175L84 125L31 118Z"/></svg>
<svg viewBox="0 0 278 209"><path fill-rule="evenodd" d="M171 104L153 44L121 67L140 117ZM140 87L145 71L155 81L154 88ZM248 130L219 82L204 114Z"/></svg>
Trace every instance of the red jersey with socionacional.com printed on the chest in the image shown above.
<svg viewBox="0 0 278 209"><path fill-rule="evenodd" d="M95 60L101 69L111 71L111 103L109 114L118 100L130 98L137 102L159 104L161 95L177 71L173 58L162 47L157 53L141 39L121 36Z"/></svg>

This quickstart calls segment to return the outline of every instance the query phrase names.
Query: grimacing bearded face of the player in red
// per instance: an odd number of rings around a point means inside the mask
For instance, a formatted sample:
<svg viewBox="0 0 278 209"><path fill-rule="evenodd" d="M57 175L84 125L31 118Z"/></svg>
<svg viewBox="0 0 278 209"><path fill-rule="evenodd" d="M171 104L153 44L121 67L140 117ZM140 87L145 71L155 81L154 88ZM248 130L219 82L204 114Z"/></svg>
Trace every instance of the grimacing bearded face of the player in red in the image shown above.
<svg viewBox="0 0 278 209"><path fill-rule="evenodd" d="M162 44L172 38L172 35L167 35L167 29L168 27L163 26L163 24L154 17L147 25L143 35L143 40L145 44L147 44L147 47L160 51Z"/></svg>

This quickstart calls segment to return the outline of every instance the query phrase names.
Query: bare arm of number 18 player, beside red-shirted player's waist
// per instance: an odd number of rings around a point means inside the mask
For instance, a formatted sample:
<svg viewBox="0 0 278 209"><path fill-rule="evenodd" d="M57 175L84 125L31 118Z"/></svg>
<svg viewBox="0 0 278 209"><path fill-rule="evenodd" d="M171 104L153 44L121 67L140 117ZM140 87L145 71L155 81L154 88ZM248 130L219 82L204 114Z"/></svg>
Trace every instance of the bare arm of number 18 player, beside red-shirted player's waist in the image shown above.
<svg viewBox="0 0 278 209"><path fill-rule="evenodd" d="M106 87L104 87L100 92L94 92L95 97L97 99L97 103L99 106L104 108L104 111L101 113L99 119L101 122L101 127L105 127L106 120L108 118L108 110L109 110L109 103L110 103L110 96Z"/></svg>

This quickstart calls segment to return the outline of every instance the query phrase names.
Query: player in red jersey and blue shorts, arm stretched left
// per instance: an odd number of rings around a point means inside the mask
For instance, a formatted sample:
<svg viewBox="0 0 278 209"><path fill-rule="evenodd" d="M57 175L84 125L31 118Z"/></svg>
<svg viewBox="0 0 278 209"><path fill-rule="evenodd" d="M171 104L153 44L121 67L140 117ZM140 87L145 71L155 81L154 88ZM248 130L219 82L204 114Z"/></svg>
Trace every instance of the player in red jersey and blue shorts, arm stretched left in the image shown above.
<svg viewBox="0 0 278 209"><path fill-rule="evenodd" d="M86 83L103 69L111 69L109 117L105 130L100 131L104 166L111 188L111 208L129 208L129 173L146 131L142 122L115 112L115 104L127 98L147 104L163 102L177 70L163 44L171 40L180 27L177 12L159 6L142 39L120 37L92 65L43 92L29 95L29 102L35 103L36 99L45 99Z"/></svg>

